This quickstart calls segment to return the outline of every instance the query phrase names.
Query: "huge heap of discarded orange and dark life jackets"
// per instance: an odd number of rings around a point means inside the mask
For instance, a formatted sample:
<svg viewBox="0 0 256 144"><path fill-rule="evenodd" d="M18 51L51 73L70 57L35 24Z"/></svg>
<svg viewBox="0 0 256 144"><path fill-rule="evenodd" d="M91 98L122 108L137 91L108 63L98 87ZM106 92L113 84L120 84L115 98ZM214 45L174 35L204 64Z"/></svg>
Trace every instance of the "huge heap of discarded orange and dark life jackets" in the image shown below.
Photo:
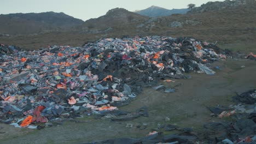
<svg viewBox="0 0 256 144"><path fill-rule="evenodd" d="M193 38L158 36L34 51L1 45L0 119L27 127L115 110L159 79L181 79L193 71L213 75L208 63L224 54Z"/></svg>

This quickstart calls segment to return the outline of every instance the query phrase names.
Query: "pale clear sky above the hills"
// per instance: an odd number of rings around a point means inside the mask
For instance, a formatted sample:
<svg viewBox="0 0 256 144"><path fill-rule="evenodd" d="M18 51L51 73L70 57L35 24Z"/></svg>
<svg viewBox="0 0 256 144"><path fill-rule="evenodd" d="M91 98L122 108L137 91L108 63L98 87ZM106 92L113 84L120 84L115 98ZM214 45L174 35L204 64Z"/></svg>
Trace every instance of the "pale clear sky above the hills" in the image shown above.
<svg viewBox="0 0 256 144"><path fill-rule="evenodd" d="M224 0L219 0L224 1ZM196 7L208 0L0 0L0 14L63 12L82 20L105 15L113 8L142 10L152 5L166 9L183 9L193 3ZM215 2L214 0L211 2Z"/></svg>

